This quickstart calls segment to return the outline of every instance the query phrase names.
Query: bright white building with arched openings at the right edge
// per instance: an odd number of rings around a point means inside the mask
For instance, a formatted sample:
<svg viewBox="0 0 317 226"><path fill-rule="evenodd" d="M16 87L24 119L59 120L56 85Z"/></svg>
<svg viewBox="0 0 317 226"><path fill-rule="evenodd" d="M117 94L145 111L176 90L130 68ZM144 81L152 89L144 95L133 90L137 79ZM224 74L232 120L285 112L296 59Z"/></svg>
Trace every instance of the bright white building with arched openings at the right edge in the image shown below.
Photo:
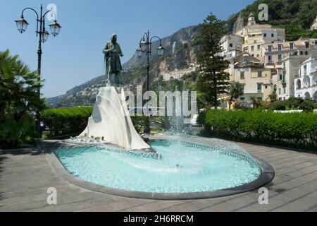
<svg viewBox="0 0 317 226"><path fill-rule="evenodd" d="M310 57L300 65L294 87L295 97L317 102L317 58Z"/></svg>

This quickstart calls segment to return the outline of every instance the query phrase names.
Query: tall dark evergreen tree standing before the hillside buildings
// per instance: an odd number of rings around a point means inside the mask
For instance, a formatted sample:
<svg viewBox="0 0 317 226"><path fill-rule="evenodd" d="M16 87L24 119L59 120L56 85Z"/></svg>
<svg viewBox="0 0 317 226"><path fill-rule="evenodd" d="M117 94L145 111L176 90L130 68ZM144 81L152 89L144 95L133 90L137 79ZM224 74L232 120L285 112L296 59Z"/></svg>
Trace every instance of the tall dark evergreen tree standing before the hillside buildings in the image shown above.
<svg viewBox="0 0 317 226"><path fill-rule="evenodd" d="M225 72L229 61L219 55L222 52L220 38L225 33L225 24L210 14L201 25L199 41L201 52L198 56L199 77L197 88L210 106L217 109L218 97L228 93L230 74Z"/></svg>

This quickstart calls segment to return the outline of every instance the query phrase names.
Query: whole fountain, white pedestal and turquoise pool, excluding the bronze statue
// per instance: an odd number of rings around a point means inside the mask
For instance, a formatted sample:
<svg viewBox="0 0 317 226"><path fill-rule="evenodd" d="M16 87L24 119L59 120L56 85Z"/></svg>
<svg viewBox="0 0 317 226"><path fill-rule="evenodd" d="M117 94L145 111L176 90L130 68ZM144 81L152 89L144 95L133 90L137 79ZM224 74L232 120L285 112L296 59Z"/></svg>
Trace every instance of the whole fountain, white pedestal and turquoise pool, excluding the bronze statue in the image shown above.
<svg viewBox="0 0 317 226"><path fill-rule="evenodd" d="M175 118L174 129L180 128ZM274 177L270 165L235 143L183 135L145 143L132 124L123 88L118 94L110 84L99 90L85 131L51 150L51 167L59 166L56 173L68 182L133 198L227 196Z"/></svg>

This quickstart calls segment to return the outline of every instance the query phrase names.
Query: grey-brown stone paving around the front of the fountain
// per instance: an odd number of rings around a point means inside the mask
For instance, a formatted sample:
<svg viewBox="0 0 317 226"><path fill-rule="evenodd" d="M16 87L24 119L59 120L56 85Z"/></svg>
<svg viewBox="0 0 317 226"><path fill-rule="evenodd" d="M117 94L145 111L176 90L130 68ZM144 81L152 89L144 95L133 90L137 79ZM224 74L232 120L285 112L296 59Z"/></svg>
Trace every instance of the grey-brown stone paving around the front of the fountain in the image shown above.
<svg viewBox="0 0 317 226"><path fill-rule="evenodd" d="M82 189L58 177L35 149L0 150L0 211L317 211L317 155L238 143L275 169L266 187L269 204L259 194L187 201L123 198ZM58 191L57 205L46 202L49 187Z"/></svg>

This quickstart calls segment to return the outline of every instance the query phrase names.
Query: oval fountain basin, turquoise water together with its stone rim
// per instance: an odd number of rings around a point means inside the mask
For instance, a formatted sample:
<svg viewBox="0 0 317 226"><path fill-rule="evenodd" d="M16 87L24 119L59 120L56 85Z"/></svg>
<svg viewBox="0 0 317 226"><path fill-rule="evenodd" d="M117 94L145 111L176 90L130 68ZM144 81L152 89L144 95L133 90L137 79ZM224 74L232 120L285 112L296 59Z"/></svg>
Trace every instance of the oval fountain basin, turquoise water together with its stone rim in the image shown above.
<svg viewBox="0 0 317 226"><path fill-rule="evenodd" d="M155 140L150 145L156 155L109 147L58 148L49 162L61 177L86 189L162 200L238 194L274 177L270 165L235 143Z"/></svg>

